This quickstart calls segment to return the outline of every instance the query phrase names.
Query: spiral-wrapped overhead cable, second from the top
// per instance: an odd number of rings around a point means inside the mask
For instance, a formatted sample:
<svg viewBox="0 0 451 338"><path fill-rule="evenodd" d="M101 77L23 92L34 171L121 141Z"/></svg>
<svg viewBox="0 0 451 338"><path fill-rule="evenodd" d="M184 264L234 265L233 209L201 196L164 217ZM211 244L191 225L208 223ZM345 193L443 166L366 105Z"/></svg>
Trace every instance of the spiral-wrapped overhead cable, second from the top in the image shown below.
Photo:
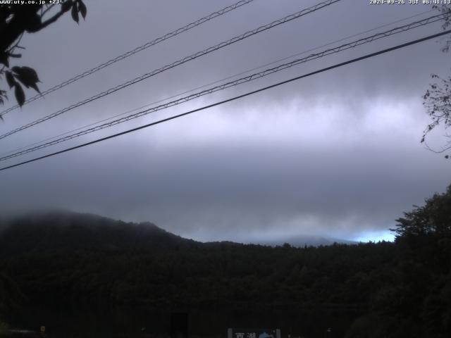
<svg viewBox="0 0 451 338"><path fill-rule="evenodd" d="M256 34L258 34L260 32L264 32L265 30L269 30L269 29L271 29L273 27L276 27L278 25L282 25L284 23L288 23L291 20L295 20L295 19L300 18L300 17L302 17L304 15L307 15L309 13L313 13L314 11L318 11L319 9L324 8L326 6L330 6L331 4L335 4L335 2L338 2L338 1L341 1L341 0L327 0L327 1L323 1L323 2L321 2L319 4L311 6L309 8L305 8L302 11L298 11L296 13L287 15L287 16L285 16L285 18L281 18L279 20L275 20L272 23L268 23L267 25L260 26L260 27L254 29L254 30L249 30L248 32L245 32L242 35L238 35L236 37L233 37L232 39L228 39L225 42L221 42L220 44L216 44L215 46L211 46L211 47L209 47L207 49L204 49L203 51L198 51L195 54L192 54L190 56L186 56L185 58L181 58L180 60L175 61L173 63L170 63L168 65L165 65L162 68L158 68L156 70L152 70L152 72L150 72L150 73L146 73L144 75L141 75L140 77L135 77L135 79L129 80L128 82L124 82L123 84L119 84L118 86L110 88L110 89L106 90L105 92L101 92L101 93L99 93L97 95L91 96L88 99L85 99L83 101L79 101L76 104L73 104L73 105L68 106L66 108L63 108L63 109L61 109L59 111L56 111L55 113L52 113L52 114L47 115L47 116L44 116L43 118L39 118L39 119L37 119L37 120L35 120L35 121L31 122L31 123L27 123L26 125L23 125L23 126L18 127L18 128L14 129L14 130L11 130L10 132L6 132L6 134L0 135L0 139L4 139L5 137L10 136L11 134L15 134L16 132L20 132L21 130L25 130L25 129L29 128L29 127L32 127L33 125L37 125L39 123L47 121L47 120L49 120L51 118L54 118L54 117L56 117L58 115L66 113L67 111L70 111L70 110L72 110L74 108L77 108L79 106L87 104L87 103L89 103L91 101L94 101L96 99L100 99L103 96L106 96L106 95L112 94L114 92L117 92L118 90L123 89L125 87L128 87L128 86L130 86L132 84L135 84L135 83L140 82L142 80L146 80L147 78L152 77L152 76L154 76L156 74L162 73L165 70L174 68L174 67L176 67L178 65L182 65L183 63L186 63L188 61L192 61L195 58L199 58L200 56L204 56L206 54L209 54L212 51L216 51L216 50L221 49L221 48L223 48L225 46L228 46L230 44L234 44L235 42L239 42L242 39L246 39L247 37L251 37L252 35L256 35Z"/></svg>

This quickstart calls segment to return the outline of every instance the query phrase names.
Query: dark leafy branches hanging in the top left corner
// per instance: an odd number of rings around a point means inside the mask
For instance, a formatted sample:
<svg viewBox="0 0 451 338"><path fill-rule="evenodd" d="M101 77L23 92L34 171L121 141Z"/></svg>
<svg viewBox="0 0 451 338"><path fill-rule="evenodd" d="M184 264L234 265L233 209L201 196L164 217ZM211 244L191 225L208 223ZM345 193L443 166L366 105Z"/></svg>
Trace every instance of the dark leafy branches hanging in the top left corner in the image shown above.
<svg viewBox="0 0 451 338"><path fill-rule="evenodd" d="M55 23L64 13L70 11L73 20L79 21L79 14L86 17L87 8L82 0L63 1L56 4L0 4L0 78L6 80L9 90L14 92L19 106L25 103L23 87L39 92L39 77L36 71L23 65L11 65L11 59L20 58L17 49L25 33L35 33ZM61 1L60 1L61 2ZM7 99L7 91L0 89L0 104Z"/></svg>

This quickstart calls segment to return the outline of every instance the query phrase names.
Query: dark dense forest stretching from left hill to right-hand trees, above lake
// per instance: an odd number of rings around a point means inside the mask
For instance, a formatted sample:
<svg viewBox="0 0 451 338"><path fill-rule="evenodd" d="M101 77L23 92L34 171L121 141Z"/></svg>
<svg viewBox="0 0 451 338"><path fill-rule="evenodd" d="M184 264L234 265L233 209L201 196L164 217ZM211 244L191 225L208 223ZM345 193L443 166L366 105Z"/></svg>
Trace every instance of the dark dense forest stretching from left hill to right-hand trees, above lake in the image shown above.
<svg viewBox="0 0 451 338"><path fill-rule="evenodd" d="M0 225L0 315L33 303L335 309L350 320L334 337L451 337L451 186L393 231L394 243L271 247L78 213L11 218Z"/></svg>

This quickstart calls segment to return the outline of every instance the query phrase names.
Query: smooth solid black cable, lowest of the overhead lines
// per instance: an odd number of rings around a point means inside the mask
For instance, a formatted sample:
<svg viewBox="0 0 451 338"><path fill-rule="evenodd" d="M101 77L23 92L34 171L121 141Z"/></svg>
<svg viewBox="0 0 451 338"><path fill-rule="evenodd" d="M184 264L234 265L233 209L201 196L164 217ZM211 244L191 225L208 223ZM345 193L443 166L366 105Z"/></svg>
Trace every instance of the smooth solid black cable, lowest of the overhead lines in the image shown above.
<svg viewBox="0 0 451 338"><path fill-rule="evenodd" d="M47 155L44 155L44 156L39 156L37 158L32 158L32 159L30 159L28 161L23 161L23 162L16 163L16 164L13 164L13 165L8 165L7 167L0 168L0 171L6 170L6 169L15 168L15 167L18 167L19 165L24 165L24 164L35 162L35 161L38 161L38 160L42 160L43 158L48 158L48 157L55 156L55 155L58 155L58 154L63 154L63 153L66 153L68 151L72 151L72 150L75 150L75 149L82 148L84 146L89 146L91 144L95 144L95 143L99 143L99 142L102 142L102 141L106 141L107 139L113 139L114 137L118 137L118 136L121 136L121 135L124 135L124 134L129 134L130 132L135 132L137 130L141 130L141 129L144 129L144 128L147 128L147 127L151 127L153 125L159 125L160 123L164 123L164 122L167 122L169 120L174 120L175 118L181 118L181 117L183 117L185 115L190 115L192 113L196 113L197 111L203 111L205 109L212 108L214 106L219 106L221 104L226 104L226 103L228 103L230 101L235 101L237 99L242 99L243 97L246 97L246 96L249 96L249 95L252 95L252 94L257 94L259 92L263 92L264 90L271 89L271 88L274 88L274 87L278 87L278 86L280 86L282 84L293 82L295 80L300 80L300 79L302 79L304 77L309 77L311 75L316 75L316 74L319 74L319 73L323 73L323 72L326 72L328 70L332 70L334 68L342 67L343 65L349 65L350 63L354 63L354 62L357 62L357 61L362 61L362 60L364 60L366 58L372 58L372 57L378 56L380 54L388 53L389 51L395 51L396 49L401 49L401 48L404 48L404 47L407 47L407 46L411 46L412 44L418 44L420 42L424 42L426 40L433 39L435 37L441 37L441 36L447 35L449 33L451 33L451 30L446 30L445 32L440 32L440 33L437 33L437 34L434 34L434 35L429 35L428 37L423 37L421 39L416 39L416 40L413 40L411 42L406 42L404 44L399 44L397 46L390 47L388 49L383 49L381 51L376 51L376 52L371 53L371 54L366 54L364 56L360 56L359 58L353 58L352 60L345 61L345 62L342 62L342 63L337 63L335 65L331 65L329 67L322 68L320 70L315 70L314 72L311 72L311 73L307 73L307 74L300 75L300 76L297 76L297 77L292 77L289 80L278 82L276 84L271 84L270 86L263 87L263 88L260 88L260 89L256 89L256 90L254 90L252 92L247 92L245 94L241 94L241 95L238 95L238 96L234 96L234 97L232 97L230 99L226 99L226 100L223 100L223 101L218 101L218 102L216 102L214 104L209 104L208 106L203 106L201 108L193 109L192 111L187 111L185 113L181 113L181 114L178 114L178 115L173 115L173 116L171 116L169 118L164 118L164 119L158 120L156 122L148 123L147 125L142 125L140 127L135 127L135 128L129 129L129 130L125 130L124 132L118 132L117 134L113 134L113 135L110 135L110 136L107 136L107 137L102 137L100 139L95 139L94 141L87 142L87 143L84 143L84 144L79 144L78 146L73 146L73 147L70 147L70 148L67 148L67 149L63 149L61 151L56 151L56 152L51 153L51 154L47 154Z"/></svg>

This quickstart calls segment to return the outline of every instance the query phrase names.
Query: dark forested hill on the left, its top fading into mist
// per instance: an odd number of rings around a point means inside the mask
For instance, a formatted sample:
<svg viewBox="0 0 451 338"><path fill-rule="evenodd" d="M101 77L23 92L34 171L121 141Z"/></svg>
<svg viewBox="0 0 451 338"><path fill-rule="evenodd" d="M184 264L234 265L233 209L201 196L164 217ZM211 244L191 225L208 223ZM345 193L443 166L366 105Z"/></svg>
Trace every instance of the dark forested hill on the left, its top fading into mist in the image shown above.
<svg viewBox="0 0 451 338"><path fill-rule="evenodd" d="M0 223L0 255L75 250L140 250L199 245L152 223L125 223L99 215L32 213Z"/></svg>

